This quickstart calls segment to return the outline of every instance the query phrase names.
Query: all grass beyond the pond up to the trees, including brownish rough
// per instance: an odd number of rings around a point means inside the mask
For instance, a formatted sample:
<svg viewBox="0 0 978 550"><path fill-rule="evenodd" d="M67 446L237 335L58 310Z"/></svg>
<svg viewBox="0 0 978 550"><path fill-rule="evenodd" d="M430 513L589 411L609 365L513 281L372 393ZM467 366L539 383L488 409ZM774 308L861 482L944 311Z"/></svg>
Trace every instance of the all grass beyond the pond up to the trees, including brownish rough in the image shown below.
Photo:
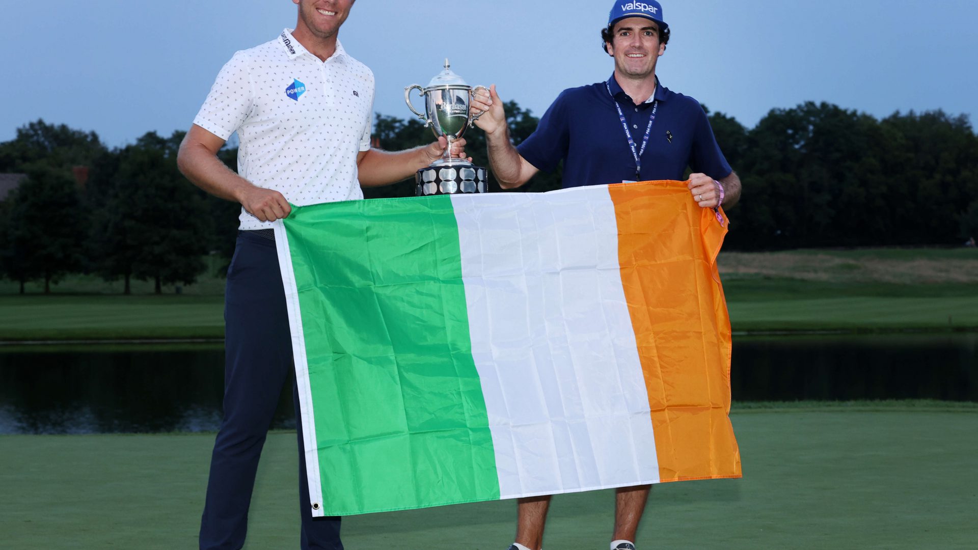
<svg viewBox="0 0 978 550"><path fill-rule="evenodd" d="M110 294L121 283L91 275L50 296L0 283L0 342L221 339L224 281L218 258L208 261L182 295L148 295L148 283ZM722 252L718 263L734 331L978 330L973 249Z"/></svg>

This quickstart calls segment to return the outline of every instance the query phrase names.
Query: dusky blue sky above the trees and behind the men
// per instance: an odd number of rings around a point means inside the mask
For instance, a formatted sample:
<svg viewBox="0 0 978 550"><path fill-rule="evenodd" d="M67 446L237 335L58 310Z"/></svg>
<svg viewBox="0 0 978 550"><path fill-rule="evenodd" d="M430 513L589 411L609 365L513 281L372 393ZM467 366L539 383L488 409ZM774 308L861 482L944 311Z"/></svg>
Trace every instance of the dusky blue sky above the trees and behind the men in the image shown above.
<svg viewBox="0 0 978 550"><path fill-rule="evenodd" d="M296 19L290 0L0 2L0 141L38 118L94 130L111 147L186 130L234 52ZM662 84L748 127L805 101L877 117L978 115L976 0L662 4L672 28ZM495 83L539 116L561 90L611 74L600 48L611 6L360 0L339 38L374 70L377 113L412 116L404 87L426 84L447 57L468 84Z"/></svg>

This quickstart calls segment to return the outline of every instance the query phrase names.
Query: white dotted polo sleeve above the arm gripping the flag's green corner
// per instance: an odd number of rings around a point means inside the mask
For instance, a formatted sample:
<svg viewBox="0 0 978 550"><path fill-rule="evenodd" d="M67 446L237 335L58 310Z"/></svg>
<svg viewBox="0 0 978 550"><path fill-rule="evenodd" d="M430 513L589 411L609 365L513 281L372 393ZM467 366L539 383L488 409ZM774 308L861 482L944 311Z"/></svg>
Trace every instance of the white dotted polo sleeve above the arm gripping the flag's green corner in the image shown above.
<svg viewBox="0 0 978 550"><path fill-rule="evenodd" d="M238 131L251 113L254 92L247 62L247 55L238 52L224 65L194 118L195 124L223 140Z"/></svg>

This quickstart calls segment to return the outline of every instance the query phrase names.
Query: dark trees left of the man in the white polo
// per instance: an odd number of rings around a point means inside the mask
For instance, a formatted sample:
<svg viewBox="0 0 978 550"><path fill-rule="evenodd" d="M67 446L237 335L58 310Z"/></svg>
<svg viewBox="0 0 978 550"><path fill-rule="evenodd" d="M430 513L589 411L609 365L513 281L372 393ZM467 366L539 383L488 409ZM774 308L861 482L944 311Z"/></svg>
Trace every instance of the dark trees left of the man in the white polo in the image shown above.
<svg viewBox="0 0 978 550"><path fill-rule="evenodd" d="M109 149L94 132L31 122L0 144L0 172L23 173L0 203L0 274L42 281L71 273L190 285L205 254L230 257L238 207L191 185L176 165L184 132L149 132ZM236 151L221 151L232 166ZM78 170L77 167L84 167ZM228 242L230 241L230 244Z"/></svg>

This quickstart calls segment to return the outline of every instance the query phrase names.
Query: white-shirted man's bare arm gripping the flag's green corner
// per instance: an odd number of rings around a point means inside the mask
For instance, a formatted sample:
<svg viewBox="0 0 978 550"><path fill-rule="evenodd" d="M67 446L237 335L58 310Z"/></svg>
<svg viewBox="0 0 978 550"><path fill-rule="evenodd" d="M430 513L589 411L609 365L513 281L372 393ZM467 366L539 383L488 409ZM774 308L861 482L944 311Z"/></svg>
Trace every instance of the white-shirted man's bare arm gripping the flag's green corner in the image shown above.
<svg viewBox="0 0 978 550"><path fill-rule="evenodd" d="M245 211L261 221L287 217L291 206L281 193L252 184L217 158L223 146L223 139L194 124L180 144L177 166L200 189L241 203Z"/></svg>

